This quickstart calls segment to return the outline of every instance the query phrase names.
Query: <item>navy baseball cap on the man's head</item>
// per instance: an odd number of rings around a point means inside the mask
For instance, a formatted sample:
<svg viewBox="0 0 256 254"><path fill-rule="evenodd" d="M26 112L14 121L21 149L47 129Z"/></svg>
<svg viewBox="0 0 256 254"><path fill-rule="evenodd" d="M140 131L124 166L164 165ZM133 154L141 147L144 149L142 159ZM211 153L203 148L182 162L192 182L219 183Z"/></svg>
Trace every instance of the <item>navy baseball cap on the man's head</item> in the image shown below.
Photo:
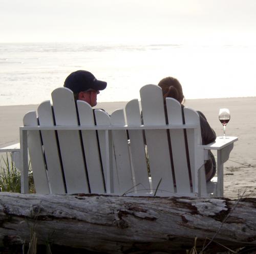
<svg viewBox="0 0 256 254"><path fill-rule="evenodd" d="M97 80L94 75L88 71L76 71L71 73L64 82L64 87L69 88L73 93L86 91L89 89L103 90L106 88L106 82Z"/></svg>

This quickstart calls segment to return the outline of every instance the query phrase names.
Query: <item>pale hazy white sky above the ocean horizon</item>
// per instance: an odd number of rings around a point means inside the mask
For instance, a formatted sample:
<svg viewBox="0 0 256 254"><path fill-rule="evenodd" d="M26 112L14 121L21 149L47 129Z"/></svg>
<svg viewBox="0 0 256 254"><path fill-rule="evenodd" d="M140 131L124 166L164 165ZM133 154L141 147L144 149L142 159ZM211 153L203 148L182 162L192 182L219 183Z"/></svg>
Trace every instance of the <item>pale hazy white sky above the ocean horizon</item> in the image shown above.
<svg viewBox="0 0 256 254"><path fill-rule="evenodd" d="M256 44L255 0L0 0L0 42Z"/></svg>

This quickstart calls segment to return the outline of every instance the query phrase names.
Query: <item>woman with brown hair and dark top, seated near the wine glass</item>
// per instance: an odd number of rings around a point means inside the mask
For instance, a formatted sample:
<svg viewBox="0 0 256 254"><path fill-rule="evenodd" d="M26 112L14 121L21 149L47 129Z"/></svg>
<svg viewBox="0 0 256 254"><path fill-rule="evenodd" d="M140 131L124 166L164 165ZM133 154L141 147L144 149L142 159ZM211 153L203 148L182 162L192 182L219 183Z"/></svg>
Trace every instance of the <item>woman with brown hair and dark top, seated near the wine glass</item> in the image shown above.
<svg viewBox="0 0 256 254"><path fill-rule="evenodd" d="M165 106L166 98L174 98L181 104L182 111L183 111L184 106L182 105L182 102L184 102L185 98L183 95L182 86L181 86L180 82L173 77L167 77L167 78L162 79L158 83L158 86L160 86L162 88L164 106ZM165 106L165 108L166 108L166 106ZM204 114L200 111L197 111L197 113L199 114L199 119L200 119L202 144L206 145L211 142L214 142L216 140L215 131L210 127ZM168 124L167 117L166 117L166 124ZM205 174L206 174L207 181L209 181L212 177L214 177L214 175L216 173L215 157L211 152L209 155L210 155L209 156L210 158L205 162Z"/></svg>

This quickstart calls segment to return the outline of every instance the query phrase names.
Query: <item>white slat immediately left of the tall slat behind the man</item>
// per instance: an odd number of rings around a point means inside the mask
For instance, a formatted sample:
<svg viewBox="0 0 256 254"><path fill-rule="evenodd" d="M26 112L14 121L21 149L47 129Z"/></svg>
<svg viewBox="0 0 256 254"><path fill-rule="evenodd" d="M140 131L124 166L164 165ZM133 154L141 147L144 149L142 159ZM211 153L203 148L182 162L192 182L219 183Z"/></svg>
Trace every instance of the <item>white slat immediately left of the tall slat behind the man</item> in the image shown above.
<svg viewBox="0 0 256 254"><path fill-rule="evenodd" d="M42 102L37 109L40 126L54 126L50 101ZM62 175L58 144L54 130L41 131L51 193L64 194L65 183Z"/></svg>

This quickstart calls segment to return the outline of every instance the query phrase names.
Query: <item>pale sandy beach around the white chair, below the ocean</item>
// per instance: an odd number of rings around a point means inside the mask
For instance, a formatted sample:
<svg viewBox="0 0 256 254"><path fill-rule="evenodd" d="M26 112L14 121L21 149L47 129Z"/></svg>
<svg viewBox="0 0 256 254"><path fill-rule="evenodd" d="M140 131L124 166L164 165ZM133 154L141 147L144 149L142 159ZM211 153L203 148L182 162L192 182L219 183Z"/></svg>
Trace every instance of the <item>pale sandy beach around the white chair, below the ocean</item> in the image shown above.
<svg viewBox="0 0 256 254"><path fill-rule="evenodd" d="M112 113L124 106L125 102L102 102L95 108ZM224 196L235 199L246 190L245 195L256 197L256 97L186 100L185 106L202 111L217 136L223 134L219 108L229 108L226 135L238 136L239 141L224 164ZM0 147L19 142L24 114L36 109L37 105L0 106Z"/></svg>

